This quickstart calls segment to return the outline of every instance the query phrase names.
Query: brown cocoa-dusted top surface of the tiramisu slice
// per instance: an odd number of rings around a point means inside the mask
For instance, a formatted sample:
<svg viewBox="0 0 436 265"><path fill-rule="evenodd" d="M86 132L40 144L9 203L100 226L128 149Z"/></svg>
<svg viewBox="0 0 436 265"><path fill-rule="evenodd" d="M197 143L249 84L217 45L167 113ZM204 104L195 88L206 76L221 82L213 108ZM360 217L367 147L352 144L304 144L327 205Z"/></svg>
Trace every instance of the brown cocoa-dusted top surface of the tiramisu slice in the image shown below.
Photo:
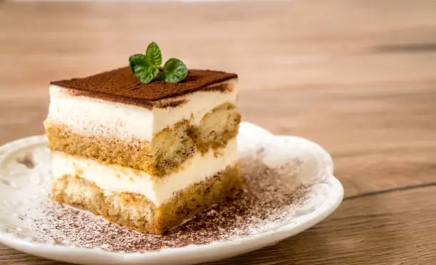
<svg viewBox="0 0 436 265"><path fill-rule="evenodd" d="M150 83L140 82L133 75L130 67L122 67L108 72L101 72L83 78L51 82L52 85L67 88L72 94L110 100L112 97L123 101L151 102L158 99L176 97L198 90L210 90L211 85L237 78L236 74L214 70L189 70L182 82L169 83L154 80ZM219 86L215 90L220 90ZM225 89L225 87L222 87ZM116 100L118 101L118 100ZM138 102L137 102L138 103Z"/></svg>

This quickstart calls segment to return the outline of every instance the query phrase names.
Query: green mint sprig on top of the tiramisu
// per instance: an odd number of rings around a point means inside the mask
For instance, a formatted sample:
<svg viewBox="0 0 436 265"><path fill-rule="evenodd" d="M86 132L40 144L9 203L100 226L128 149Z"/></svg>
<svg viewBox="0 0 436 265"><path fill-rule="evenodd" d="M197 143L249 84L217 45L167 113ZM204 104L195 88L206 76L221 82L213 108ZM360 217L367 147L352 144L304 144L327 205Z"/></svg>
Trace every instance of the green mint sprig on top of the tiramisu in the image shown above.
<svg viewBox="0 0 436 265"><path fill-rule="evenodd" d="M129 58L129 66L133 75L142 83L149 83L159 77L160 80L175 83L184 80L187 76L185 63L176 58L170 58L162 64L162 53L159 46L152 42L147 46L145 54L135 54Z"/></svg>

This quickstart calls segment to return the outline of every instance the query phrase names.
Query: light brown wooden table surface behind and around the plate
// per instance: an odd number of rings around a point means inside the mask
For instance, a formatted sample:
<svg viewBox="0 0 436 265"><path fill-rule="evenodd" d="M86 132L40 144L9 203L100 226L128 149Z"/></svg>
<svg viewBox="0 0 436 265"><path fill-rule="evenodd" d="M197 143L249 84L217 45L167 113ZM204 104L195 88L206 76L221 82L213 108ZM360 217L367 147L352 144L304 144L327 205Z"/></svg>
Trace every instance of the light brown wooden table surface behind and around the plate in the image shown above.
<svg viewBox="0 0 436 265"><path fill-rule="evenodd" d="M240 109L332 154L346 199L280 244L212 264L436 264L436 1L0 4L0 144L42 134L48 82L147 43L238 72ZM0 264L61 264L0 245Z"/></svg>

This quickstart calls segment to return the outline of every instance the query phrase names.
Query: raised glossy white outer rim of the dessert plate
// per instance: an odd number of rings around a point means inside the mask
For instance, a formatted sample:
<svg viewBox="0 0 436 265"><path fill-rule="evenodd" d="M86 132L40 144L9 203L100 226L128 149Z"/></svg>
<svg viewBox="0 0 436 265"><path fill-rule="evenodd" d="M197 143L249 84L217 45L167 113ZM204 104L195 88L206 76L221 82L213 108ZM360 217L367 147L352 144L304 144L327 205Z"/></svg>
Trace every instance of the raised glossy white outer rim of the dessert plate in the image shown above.
<svg viewBox="0 0 436 265"><path fill-rule="evenodd" d="M269 134L269 131L266 131L266 129L257 126L256 124L251 124L245 121L242 124L244 124L244 126L257 127L257 129ZM273 135L271 134L271 136ZM276 244L281 240L292 237L295 234L299 234L300 232L313 227L318 224L318 222L321 222L328 217L328 215L336 210L343 200L343 186L340 181L333 176L332 158L323 147L313 141L299 136L274 135L274 137L287 138L291 141L298 141L301 142L301 144L307 144L319 152L319 156L321 156L323 161L328 161L327 164L329 165L329 168L326 168L325 171L325 173L328 174L325 176L325 181L328 182L330 189L328 200L324 201L323 204L316 210L313 210L313 212L309 212L300 217L301 222L297 224L289 223L275 229L267 230L266 232L252 234L226 242L188 245L186 247L164 248L146 252L109 252L104 249L88 249L84 247L34 242L28 238L23 239L17 237L16 234L6 232L1 229L1 227L0 243L28 254L78 264L145 264L144 262L147 262L146 264L170 264L171 262L177 264L193 264L237 256L238 254L244 254L256 249L261 249L262 247ZM28 145L31 145L41 144L43 141L47 141L46 137L43 135L29 136L0 146L0 166L1 154L3 152L7 153L12 150L14 146L19 146L20 144L23 144L23 142L27 142ZM68 256L75 256L75 259L68 258ZM89 263L86 260L88 260Z"/></svg>

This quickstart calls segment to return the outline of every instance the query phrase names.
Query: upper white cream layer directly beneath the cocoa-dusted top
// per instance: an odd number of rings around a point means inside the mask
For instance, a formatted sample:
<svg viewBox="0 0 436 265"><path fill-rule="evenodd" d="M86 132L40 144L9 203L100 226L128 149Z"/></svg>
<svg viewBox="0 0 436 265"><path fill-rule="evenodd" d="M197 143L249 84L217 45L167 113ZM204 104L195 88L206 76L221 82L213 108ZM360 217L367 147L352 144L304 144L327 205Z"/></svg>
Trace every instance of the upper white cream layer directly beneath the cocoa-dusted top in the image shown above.
<svg viewBox="0 0 436 265"><path fill-rule="evenodd" d="M234 85L236 80L229 80ZM219 85L219 84L215 84ZM118 139L151 141L153 134L187 119L198 125L204 115L215 107L236 104L236 90L232 92L199 91L180 97L162 99L161 102L185 100L177 107L152 110L128 104L107 102L90 97L71 96L62 87L50 86L48 121L58 121L70 129L86 135L100 134Z"/></svg>

